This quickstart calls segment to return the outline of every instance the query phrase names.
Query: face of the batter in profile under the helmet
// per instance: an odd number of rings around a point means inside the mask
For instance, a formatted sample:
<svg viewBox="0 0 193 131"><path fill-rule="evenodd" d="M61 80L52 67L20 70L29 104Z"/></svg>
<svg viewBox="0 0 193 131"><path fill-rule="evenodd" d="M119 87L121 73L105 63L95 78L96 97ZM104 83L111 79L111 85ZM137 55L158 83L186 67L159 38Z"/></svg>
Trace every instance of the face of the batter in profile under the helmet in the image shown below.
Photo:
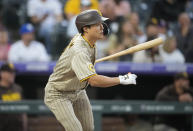
<svg viewBox="0 0 193 131"><path fill-rule="evenodd" d="M103 25L102 23L97 23L94 24L90 27L90 32L89 32L93 38L95 39L103 39Z"/></svg>

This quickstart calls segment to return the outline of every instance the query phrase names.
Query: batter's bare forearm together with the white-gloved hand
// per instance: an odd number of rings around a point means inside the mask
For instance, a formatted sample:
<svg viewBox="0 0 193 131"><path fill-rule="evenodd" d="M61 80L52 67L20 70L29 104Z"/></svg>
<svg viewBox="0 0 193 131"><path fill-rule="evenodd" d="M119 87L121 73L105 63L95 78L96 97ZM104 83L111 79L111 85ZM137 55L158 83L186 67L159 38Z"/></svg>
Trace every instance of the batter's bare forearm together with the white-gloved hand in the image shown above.
<svg viewBox="0 0 193 131"><path fill-rule="evenodd" d="M128 73L119 77L107 77L103 75L95 75L87 79L89 84L94 87L111 87L118 84L128 85L136 84L137 76L135 74Z"/></svg>

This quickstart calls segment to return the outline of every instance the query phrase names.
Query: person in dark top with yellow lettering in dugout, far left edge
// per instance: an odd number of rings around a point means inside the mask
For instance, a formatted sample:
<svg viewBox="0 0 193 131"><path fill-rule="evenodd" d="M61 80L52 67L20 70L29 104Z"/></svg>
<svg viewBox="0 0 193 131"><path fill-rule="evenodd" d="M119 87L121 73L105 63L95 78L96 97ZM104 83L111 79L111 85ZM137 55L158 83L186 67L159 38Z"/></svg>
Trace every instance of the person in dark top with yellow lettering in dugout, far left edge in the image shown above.
<svg viewBox="0 0 193 131"><path fill-rule="evenodd" d="M0 68L0 101L20 101L22 88L15 84L13 64L5 63ZM27 131L26 114L0 114L1 131Z"/></svg>

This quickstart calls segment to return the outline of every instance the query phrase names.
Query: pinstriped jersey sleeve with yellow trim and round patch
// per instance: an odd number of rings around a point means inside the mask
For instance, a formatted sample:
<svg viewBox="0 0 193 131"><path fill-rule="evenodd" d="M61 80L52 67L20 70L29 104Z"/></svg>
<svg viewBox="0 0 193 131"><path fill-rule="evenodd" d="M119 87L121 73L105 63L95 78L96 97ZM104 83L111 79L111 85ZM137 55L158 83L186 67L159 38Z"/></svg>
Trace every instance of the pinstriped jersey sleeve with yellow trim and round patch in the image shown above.
<svg viewBox="0 0 193 131"><path fill-rule="evenodd" d="M86 53L80 52L75 54L71 61L71 66L72 70L75 72L76 76L81 82L97 75L94 65Z"/></svg>

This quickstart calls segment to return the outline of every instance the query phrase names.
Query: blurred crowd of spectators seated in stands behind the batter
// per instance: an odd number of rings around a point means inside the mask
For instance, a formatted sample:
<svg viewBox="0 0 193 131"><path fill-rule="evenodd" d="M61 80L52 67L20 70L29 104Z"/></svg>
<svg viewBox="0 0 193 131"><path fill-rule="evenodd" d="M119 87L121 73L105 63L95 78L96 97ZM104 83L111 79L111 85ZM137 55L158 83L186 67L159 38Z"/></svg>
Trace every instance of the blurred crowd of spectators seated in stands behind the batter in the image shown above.
<svg viewBox="0 0 193 131"><path fill-rule="evenodd" d="M162 37L164 44L159 47L113 61L193 62L192 1L140 0L136 3L140 4L141 9L139 6L136 8L132 0L25 0L20 3L21 1L10 4L1 2L2 61L56 60L70 39L78 33L76 15L86 9L98 9L103 16L110 18L107 22L110 34L96 44L97 58ZM146 16L146 20L142 15ZM24 29L24 25L30 25L29 28L33 29L28 31L30 29Z"/></svg>

